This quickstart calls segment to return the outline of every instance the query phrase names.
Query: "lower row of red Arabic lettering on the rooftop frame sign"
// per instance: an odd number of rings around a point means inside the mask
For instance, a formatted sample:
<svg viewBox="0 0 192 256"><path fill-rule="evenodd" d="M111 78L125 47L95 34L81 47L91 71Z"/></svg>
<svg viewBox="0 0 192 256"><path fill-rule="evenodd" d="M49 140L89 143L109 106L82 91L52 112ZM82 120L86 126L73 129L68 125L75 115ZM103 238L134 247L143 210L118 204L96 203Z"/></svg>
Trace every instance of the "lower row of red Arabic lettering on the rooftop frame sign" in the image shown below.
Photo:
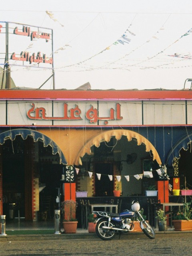
<svg viewBox="0 0 192 256"><path fill-rule="evenodd" d="M38 52L37 56L35 55L35 53L29 56L29 52L21 52L20 57L16 57L15 52L13 52L11 55L11 60L29 61L30 64L32 64L32 62L53 64L53 58L47 58L46 54L43 54L42 57L41 52Z"/></svg>

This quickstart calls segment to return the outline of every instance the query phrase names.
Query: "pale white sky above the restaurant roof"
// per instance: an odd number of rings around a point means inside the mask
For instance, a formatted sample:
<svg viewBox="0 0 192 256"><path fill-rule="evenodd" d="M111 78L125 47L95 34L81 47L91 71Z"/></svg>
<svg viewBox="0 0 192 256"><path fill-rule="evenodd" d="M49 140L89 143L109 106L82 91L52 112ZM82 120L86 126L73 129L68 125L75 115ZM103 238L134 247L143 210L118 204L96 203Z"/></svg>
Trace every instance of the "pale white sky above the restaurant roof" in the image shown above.
<svg viewBox="0 0 192 256"><path fill-rule="evenodd" d="M55 89L74 90L89 82L92 90L182 90L192 78L191 0L7 0L0 21L10 22L9 58L21 51L53 53ZM51 40L13 34L22 24L53 32L53 47ZM39 88L48 80L41 88L53 88L50 63L9 63L16 86ZM185 88L190 86L186 82Z"/></svg>

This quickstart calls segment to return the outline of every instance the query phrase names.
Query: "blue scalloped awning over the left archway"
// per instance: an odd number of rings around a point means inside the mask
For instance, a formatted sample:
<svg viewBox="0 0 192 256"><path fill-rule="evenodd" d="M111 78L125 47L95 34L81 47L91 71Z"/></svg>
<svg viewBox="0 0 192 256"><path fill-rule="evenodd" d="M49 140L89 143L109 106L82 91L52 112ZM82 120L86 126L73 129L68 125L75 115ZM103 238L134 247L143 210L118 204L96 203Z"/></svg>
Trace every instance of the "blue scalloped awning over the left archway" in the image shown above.
<svg viewBox="0 0 192 256"><path fill-rule="evenodd" d="M50 139L48 136L37 132L35 130L30 129L14 129L9 130L6 132L0 133L0 145L4 144L5 140L15 140L16 136L20 135L23 140L26 140L28 136L32 137L34 142L37 142L38 140L43 142L44 147L47 147L48 145L52 147L52 154L59 154L60 156L60 164L67 164L66 159L64 157L63 152L60 150L60 148L57 146L57 144Z"/></svg>

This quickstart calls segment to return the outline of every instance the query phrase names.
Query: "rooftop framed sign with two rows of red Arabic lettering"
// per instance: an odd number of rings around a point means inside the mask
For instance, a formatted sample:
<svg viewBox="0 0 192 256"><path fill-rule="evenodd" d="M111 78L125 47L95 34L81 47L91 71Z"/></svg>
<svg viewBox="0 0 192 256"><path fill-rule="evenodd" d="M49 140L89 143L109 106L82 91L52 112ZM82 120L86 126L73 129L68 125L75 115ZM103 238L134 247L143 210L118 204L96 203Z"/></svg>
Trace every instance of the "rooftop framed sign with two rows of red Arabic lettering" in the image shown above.
<svg viewBox="0 0 192 256"><path fill-rule="evenodd" d="M29 26L13 22L0 23L0 47L6 44L8 34L9 64L22 66L35 66L51 68L52 57L52 30L37 26ZM37 41L37 42L34 42ZM0 58L5 58L6 53L0 53ZM48 64L51 64L48 65Z"/></svg>

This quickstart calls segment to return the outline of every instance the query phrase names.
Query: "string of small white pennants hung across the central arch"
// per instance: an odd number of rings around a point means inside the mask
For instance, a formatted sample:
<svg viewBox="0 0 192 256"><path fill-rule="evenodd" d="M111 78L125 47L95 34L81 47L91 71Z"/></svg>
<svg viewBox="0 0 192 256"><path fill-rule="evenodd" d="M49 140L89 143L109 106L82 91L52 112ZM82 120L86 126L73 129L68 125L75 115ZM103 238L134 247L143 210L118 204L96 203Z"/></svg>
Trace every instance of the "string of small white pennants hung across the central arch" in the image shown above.
<svg viewBox="0 0 192 256"><path fill-rule="evenodd" d="M76 174L78 175L79 174L79 171L81 171L81 169L79 168L75 168L76 170ZM91 178L93 174L96 174L97 175L97 178L98 180L100 180L101 178L101 175L105 175L105 176L108 176L110 181L113 180L113 177L116 177L117 181L120 182L121 178L122 177L125 177L127 181L130 181L130 176L134 176L134 178L136 178L137 180L140 180L142 179L143 177L146 177L146 178L153 178L153 172L157 172L157 174L160 176L160 177L164 177L168 180L170 180L168 174L167 174L167 169L166 167L162 167L158 170L150 170L150 171L146 171L144 172L143 174L135 174L135 175L124 175L124 176L121 176L121 175L108 175L108 174L100 174L100 173L95 173L95 172L89 172L89 171L85 171L85 170L82 170L83 172L88 172L89 174L89 177Z"/></svg>

